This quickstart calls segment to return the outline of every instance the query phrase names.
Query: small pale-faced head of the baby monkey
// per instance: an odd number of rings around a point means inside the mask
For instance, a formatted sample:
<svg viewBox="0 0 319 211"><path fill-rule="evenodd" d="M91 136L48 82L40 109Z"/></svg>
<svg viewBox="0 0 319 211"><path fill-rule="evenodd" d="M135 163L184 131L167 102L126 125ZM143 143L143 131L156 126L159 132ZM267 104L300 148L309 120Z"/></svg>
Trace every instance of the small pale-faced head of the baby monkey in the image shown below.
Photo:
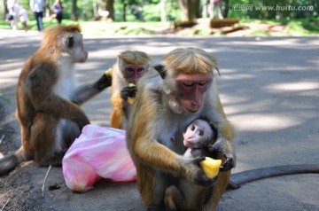
<svg viewBox="0 0 319 211"><path fill-rule="evenodd" d="M192 121L183 134L183 145L191 149L206 147L213 139L214 132L207 121Z"/></svg>

